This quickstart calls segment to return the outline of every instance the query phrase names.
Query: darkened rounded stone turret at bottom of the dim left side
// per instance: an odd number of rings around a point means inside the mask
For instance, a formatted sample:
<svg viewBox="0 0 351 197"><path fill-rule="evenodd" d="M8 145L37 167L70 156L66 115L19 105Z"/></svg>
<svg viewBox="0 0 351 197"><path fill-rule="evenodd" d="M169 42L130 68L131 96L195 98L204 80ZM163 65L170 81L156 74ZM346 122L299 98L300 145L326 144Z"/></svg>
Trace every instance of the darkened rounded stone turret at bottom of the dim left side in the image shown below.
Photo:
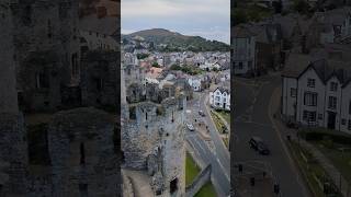
<svg viewBox="0 0 351 197"><path fill-rule="evenodd" d="M94 108L60 112L48 130L53 196L118 196L114 120ZM83 153L82 153L83 152Z"/></svg>

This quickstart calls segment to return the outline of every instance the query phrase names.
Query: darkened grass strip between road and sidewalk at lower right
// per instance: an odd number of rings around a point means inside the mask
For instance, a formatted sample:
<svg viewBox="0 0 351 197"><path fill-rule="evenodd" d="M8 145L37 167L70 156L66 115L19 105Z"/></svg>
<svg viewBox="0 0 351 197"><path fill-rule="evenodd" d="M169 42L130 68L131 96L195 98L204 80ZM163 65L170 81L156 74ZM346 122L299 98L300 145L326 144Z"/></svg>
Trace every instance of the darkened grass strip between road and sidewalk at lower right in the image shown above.
<svg viewBox="0 0 351 197"><path fill-rule="evenodd" d="M332 181L330 181L330 177L325 172L322 166L316 162L308 150L298 146L297 142L290 142L288 148L292 151L294 160L297 163L304 179L307 182L310 192L314 194L314 196L325 196L324 183L332 183ZM336 195L336 197L338 195Z"/></svg>

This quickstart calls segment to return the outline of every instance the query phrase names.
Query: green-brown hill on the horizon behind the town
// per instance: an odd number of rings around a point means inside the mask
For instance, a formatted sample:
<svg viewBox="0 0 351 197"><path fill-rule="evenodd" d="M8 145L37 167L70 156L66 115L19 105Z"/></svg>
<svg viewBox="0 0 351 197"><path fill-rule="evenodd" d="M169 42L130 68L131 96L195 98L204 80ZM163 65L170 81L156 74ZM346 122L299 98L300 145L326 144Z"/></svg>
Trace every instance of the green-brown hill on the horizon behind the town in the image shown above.
<svg viewBox="0 0 351 197"><path fill-rule="evenodd" d="M124 35L126 39L132 39L136 36L143 37L147 43L154 43L155 46L167 45L163 50L193 50L193 51L228 51L229 45L217 42L207 40L200 36L188 36L176 32L170 32L163 28L152 28L135 32L133 34Z"/></svg>

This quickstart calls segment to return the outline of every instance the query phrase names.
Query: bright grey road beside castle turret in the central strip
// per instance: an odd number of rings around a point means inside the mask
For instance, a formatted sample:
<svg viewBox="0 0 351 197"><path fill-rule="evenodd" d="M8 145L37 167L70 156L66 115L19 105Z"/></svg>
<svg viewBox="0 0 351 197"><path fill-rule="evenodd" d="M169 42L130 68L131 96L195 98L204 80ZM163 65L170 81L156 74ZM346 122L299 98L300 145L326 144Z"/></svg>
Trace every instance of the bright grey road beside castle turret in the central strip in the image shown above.
<svg viewBox="0 0 351 197"><path fill-rule="evenodd" d="M207 142L197 132L188 132L186 140L194 148L194 153L206 164L212 164L212 181L219 196L228 196L230 192L230 154L226 149L214 123L211 119L210 109L206 106L207 92L194 93L194 100L188 104L188 123L195 125L195 119L202 119L210 129L210 136L214 142L210 149ZM205 117L199 115L199 111L205 113Z"/></svg>

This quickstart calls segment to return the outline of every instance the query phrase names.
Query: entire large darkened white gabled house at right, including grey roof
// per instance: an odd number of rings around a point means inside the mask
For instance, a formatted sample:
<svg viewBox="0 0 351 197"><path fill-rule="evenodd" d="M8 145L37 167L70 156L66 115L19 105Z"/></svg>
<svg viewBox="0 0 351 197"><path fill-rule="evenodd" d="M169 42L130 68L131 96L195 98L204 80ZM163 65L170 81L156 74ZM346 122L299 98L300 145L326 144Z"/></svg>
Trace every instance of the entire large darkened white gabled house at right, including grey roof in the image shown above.
<svg viewBox="0 0 351 197"><path fill-rule="evenodd" d="M351 134L351 67L292 55L282 73L282 115L304 126Z"/></svg>

